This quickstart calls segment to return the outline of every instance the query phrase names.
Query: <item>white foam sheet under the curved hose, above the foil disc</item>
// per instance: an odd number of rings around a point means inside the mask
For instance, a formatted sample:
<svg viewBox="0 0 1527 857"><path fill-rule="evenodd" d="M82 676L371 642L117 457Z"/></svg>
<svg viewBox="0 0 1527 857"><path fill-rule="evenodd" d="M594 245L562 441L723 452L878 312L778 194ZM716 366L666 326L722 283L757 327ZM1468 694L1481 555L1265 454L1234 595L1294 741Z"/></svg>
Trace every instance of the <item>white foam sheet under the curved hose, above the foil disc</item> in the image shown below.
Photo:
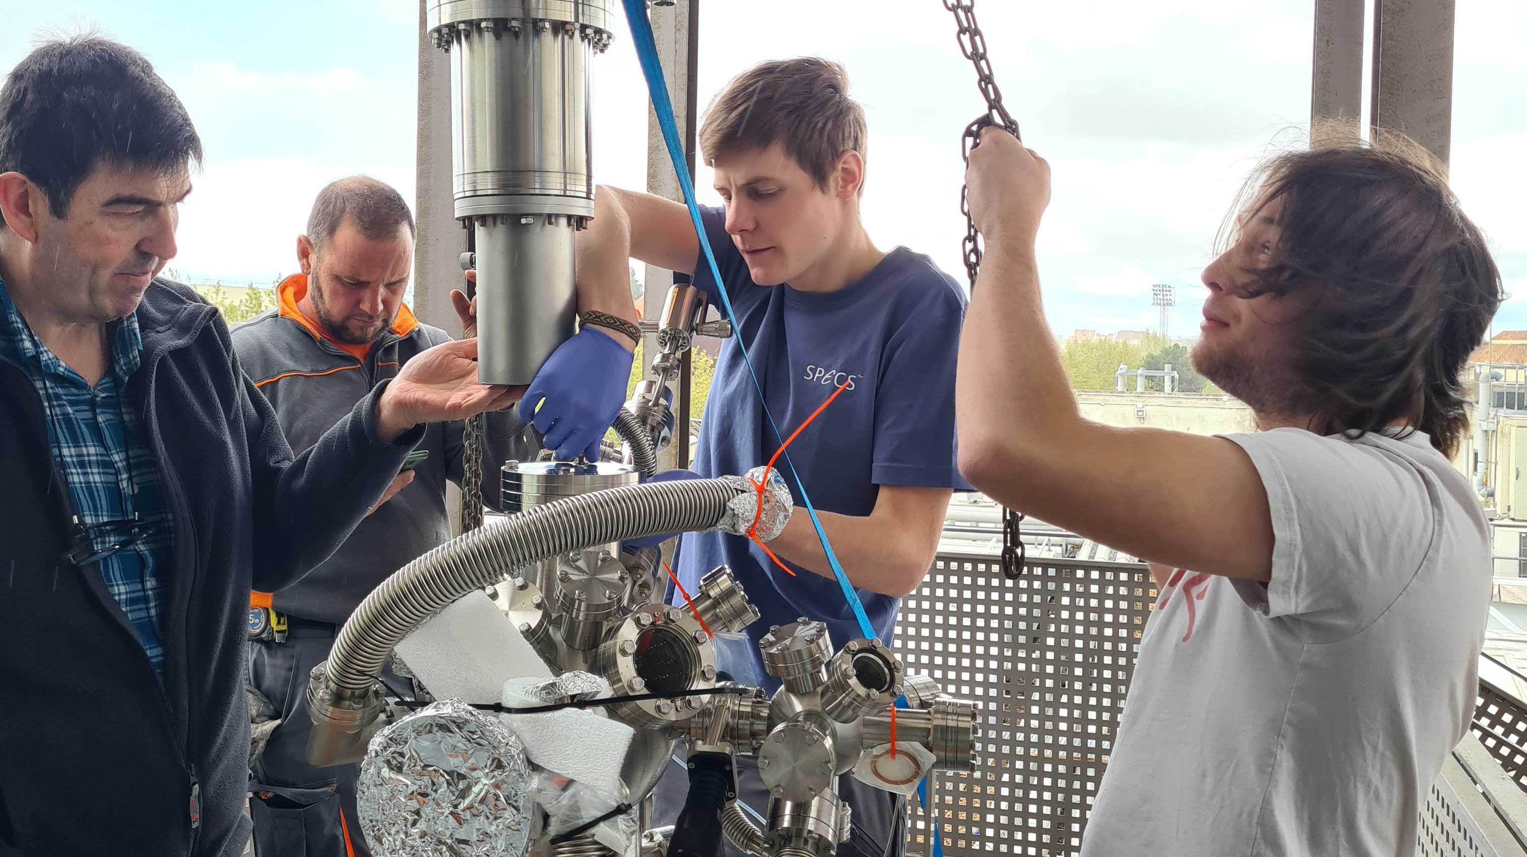
<svg viewBox="0 0 1527 857"><path fill-rule="evenodd" d="M492 703L510 679L551 679L536 650L483 590L425 619L397 656L437 700Z"/></svg>

